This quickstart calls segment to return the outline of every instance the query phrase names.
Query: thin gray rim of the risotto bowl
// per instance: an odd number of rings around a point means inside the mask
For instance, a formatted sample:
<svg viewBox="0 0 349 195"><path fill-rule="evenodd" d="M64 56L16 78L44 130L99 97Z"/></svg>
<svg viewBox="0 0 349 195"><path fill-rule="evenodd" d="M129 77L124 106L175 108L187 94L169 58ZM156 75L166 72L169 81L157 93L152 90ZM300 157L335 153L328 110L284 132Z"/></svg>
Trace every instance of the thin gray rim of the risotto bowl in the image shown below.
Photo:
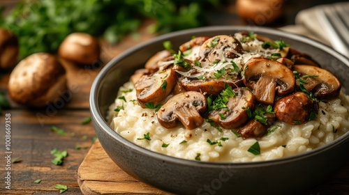
<svg viewBox="0 0 349 195"><path fill-rule="evenodd" d="M202 162L202 161L195 161L191 159L181 159L178 157L172 157L169 155L164 155L161 153L156 153L152 150L149 150L147 148L142 148L142 146L138 146L137 144L128 141L124 137L121 137L117 132L112 130L109 124L105 121L105 119L101 115L101 110L99 109L98 105L98 94L101 90L101 84L103 83L105 79L105 75L107 75L109 70L112 70L112 68L115 68L115 65L119 63L122 59L126 58L127 56L133 54L134 52L138 52L143 47L147 47L151 44L154 44L154 42L159 41L165 41L170 38L173 38L175 36L184 36L189 34L195 34L198 32L209 32L209 31L255 31L257 33L267 33L272 34L273 36L280 36L281 38L289 38L295 41L306 43L307 45L311 45L313 47L318 47L318 49L321 49L322 51L326 52L327 54L330 54L334 56L339 61L343 62L347 67L349 67L349 59L346 58L346 56L343 56L342 54L339 54L339 52L334 51L334 49L330 48L327 45L322 44L321 42L318 42L316 40L313 40L311 38L307 38L305 36L297 35L295 33L288 33L285 31L280 31L279 29L273 29L269 27L260 27L260 26L206 26L206 27L200 27L195 29L186 29L182 31L175 31L172 33L166 33L161 36L157 36L156 38L151 38L151 40L147 40L145 42L142 42L138 45L135 45L129 49L126 49L121 54L117 55L112 59L103 69L98 73L96 78L94 79L94 82L91 86L90 96L89 96L89 103L90 103L90 111L91 116L94 118L95 125L98 125L101 127L101 129L107 133L114 141L119 141L120 143L123 143L125 146L132 148L133 150L136 150L138 153L144 153L147 154L153 158L161 159L166 162L172 162L175 164L186 164L191 166L210 166L210 167L216 167L216 166L272 166L275 164L284 164L288 162L294 162L299 159L304 159L311 157L313 155L318 155L318 153L322 153L322 151L329 150L331 148L334 148L336 146L339 146L345 141L349 140L349 131L343 134L341 137L337 138L336 140L332 141L331 143L327 143L324 146L320 146L318 148L315 148L311 151L306 151L304 153L300 153L297 155L291 155L289 157L281 157L279 159L271 159L271 160L263 160L258 162ZM102 144L103 145L103 144Z"/></svg>

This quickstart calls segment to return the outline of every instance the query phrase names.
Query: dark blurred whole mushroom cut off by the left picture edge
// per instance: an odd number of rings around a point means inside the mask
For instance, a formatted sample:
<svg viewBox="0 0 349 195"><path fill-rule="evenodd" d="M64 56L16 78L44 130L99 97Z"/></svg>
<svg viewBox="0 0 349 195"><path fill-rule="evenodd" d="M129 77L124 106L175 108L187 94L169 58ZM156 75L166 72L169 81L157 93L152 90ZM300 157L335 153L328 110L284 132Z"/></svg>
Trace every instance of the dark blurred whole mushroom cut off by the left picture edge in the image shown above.
<svg viewBox="0 0 349 195"><path fill-rule="evenodd" d="M18 50L18 38L7 29L0 29L0 69L15 66Z"/></svg>

